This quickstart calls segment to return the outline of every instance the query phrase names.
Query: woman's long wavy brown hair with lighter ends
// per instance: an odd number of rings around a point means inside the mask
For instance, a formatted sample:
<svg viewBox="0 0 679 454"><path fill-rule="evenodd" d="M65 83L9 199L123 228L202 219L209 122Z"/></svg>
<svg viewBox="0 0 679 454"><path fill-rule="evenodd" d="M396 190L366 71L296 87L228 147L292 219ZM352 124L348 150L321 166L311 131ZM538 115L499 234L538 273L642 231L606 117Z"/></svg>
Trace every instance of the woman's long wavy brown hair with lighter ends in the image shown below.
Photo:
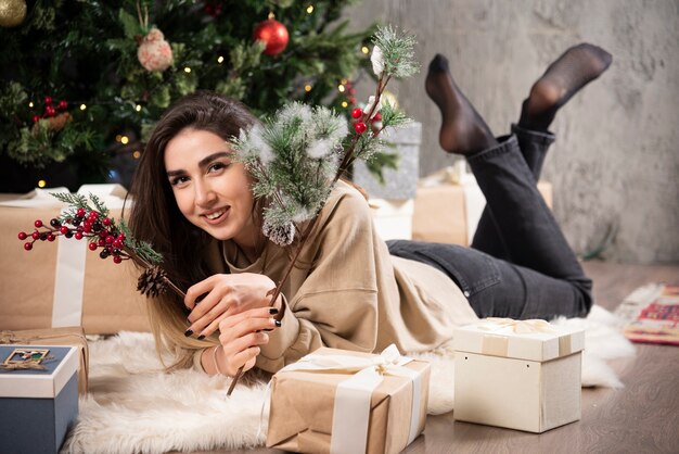
<svg viewBox="0 0 679 454"><path fill-rule="evenodd" d="M139 161L130 189L133 204L129 227L134 238L150 242L163 255L163 268L184 291L212 274L204 256L216 240L179 211L165 172L165 147L187 128L206 130L229 140L255 123L257 118L242 103L214 92L197 91L163 114ZM216 341L216 338L206 342L184 337L187 315L183 301L171 291L149 299L158 353L169 350L178 354L177 362L168 368L188 366L193 351Z"/></svg>

